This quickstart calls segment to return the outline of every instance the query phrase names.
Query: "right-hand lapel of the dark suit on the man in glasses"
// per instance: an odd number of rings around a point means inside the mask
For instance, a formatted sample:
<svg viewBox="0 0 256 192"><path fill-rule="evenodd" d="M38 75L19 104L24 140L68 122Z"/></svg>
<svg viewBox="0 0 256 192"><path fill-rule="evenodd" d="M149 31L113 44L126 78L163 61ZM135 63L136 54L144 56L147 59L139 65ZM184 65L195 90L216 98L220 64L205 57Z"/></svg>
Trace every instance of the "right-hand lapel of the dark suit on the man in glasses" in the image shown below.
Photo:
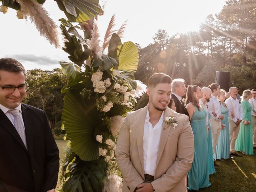
<svg viewBox="0 0 256 192"><path fill-rule="evenodd" d="M28 145L28 151L33 152L33 122L31 120L30 111L27 109L27 106L21 104L22 118L25 127L26 140Z"/></svg>

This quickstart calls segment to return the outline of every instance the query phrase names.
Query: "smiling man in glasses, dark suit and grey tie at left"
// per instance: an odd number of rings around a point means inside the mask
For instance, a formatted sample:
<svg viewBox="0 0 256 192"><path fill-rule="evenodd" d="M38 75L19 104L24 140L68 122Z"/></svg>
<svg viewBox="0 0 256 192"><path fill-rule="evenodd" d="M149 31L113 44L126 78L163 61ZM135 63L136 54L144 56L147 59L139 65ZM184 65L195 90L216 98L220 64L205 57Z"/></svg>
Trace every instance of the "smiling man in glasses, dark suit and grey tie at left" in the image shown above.
<svg viewBox="0 0 256 192"><path fill-rule="evenodd" d="M0 191L54 192L59 150L43 110L22 104L26 72L0 59Z"/></svg>

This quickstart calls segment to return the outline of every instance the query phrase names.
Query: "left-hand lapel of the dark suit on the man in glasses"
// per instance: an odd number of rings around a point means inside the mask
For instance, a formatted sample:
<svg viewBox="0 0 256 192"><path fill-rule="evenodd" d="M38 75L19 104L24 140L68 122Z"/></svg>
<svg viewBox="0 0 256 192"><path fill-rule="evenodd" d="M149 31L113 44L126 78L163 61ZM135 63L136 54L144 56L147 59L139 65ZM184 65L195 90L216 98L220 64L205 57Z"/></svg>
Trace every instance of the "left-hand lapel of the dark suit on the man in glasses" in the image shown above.
<svg viewBox="0 0 256 192"><path fill-rule="evenodd" d="M20 135L18 134L16 128L13 126L12 122L10 122L9 118L4 114L2 110L0 110L0 125L9 132L10 135L27 151Z"/></svg>

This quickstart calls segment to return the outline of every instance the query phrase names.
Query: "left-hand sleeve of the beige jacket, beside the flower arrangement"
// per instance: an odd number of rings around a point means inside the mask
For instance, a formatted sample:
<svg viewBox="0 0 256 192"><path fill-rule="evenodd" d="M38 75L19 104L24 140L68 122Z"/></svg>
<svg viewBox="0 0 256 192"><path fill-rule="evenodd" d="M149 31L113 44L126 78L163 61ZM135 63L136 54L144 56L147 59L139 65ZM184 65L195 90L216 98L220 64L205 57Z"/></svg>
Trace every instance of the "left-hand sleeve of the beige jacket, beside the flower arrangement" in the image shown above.
<svg viewBox="0 0 256 192"><path fill-rule="evenodd" d="M138 184L144 182L144 178L140 176L130 161L130 128L128 125L128 116L129 114L124 119L116 143L116 161L128 185L127 187L133 192Z"/></svg>

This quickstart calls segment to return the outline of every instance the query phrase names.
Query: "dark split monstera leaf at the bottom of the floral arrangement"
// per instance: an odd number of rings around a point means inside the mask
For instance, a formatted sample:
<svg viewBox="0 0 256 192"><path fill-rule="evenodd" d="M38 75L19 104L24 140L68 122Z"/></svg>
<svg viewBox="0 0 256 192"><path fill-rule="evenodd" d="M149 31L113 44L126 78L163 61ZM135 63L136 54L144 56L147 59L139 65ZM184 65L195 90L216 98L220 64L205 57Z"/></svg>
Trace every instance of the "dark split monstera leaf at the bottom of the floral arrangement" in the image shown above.
<svg viewBox="0 0 256 192"><path fill-rule="evenodd" d="M64 192L101 192L106 163L102 158L95 161L76 160L70 166L70 178L63 185Z"/></svg>

